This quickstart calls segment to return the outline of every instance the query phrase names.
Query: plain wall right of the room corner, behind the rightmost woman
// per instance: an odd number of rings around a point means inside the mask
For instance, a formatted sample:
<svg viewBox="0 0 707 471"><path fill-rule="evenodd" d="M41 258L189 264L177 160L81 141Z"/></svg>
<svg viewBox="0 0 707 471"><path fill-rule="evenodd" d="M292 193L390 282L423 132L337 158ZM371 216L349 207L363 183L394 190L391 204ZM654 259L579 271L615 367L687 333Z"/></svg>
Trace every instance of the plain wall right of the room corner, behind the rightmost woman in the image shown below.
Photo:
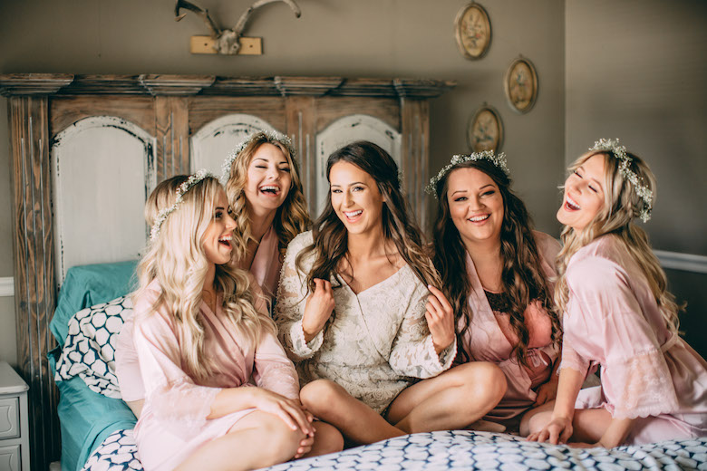
<svg viewBox="0 0 707 471"><path fill-rule="evenodd" d="M707 255L707 2L567 0L566 14L567 161L619 137L658 178L654 248ZM707 356L707 274L667 274L688 303L685 338Z"/></svg>

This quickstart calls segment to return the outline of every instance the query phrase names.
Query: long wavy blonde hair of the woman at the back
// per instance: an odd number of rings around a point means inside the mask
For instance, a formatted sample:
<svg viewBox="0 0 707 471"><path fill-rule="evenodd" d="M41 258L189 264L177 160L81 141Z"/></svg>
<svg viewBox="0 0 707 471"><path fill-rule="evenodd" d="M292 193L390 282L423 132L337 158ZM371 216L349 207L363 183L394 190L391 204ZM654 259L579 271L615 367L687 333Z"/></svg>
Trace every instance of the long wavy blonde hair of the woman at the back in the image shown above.
<svg viewBox="0 0 707 471"><path fill-rule="evenodd" d="M293 159L285 144L265 132L258 132L249 139L246 147L238 153L228 172L226 196L237 224L233 239L234 257L236 260L243 260L246 257L248 242L251 239L255 240L250 232L250 217L247 212L246 192L244 190L246 188L250 160L253 159L257 149L263 144L272 144L277 149L280 149L290 167L290 177L292 178L287 197L283 204L277 208L275 219L273 220L281 259L285 257L287 245L295 238L295 235L305 232L312 225L307 211L302 180L299 177L297 161Z"/></svg>

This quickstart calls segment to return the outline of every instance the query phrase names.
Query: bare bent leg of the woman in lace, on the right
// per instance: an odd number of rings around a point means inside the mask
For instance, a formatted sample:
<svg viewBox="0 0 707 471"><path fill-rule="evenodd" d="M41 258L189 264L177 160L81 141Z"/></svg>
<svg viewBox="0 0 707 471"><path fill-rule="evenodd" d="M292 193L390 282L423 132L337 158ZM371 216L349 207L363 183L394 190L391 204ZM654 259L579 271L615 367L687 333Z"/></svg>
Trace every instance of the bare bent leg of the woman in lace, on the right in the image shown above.
<svg viewBox="0 0 707 471"><path fill-rule="evenodd" d="M403 390L388 420L407 433L465 428L493 409L506 388L498 366L472 361Z"/></svg>

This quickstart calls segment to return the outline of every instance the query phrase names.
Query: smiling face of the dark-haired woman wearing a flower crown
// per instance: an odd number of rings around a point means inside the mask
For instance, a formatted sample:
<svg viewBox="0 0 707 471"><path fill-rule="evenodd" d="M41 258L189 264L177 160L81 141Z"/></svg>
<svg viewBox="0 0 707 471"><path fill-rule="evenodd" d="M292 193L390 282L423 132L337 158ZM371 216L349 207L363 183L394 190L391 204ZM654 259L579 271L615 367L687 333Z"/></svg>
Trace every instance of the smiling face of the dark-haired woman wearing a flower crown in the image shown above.
<svg viewBox="0 0 707 471"><path fill-rule="evenodd" d="M456 168L448 178L450 216L464 245L498 242L504 214L499 186L477 168Z"/></svg>

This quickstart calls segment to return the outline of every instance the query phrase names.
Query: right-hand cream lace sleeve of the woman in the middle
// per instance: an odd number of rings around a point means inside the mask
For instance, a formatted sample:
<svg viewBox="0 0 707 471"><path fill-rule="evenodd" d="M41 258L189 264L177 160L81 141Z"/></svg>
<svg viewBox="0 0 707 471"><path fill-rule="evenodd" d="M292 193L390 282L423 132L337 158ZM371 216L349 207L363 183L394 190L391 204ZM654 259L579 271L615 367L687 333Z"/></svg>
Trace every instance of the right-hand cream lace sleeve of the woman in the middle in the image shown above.
<svg viewBox="0 0 707 471"><path fill-rule="evenodd" d="M421 295L419 294L421 293ZM393 370L412 378L432 378L448 370L457 354L456 339L437 354L425 320L427 290L417 290L418 299L408 311L392 344L388 362Z"/></svg>

